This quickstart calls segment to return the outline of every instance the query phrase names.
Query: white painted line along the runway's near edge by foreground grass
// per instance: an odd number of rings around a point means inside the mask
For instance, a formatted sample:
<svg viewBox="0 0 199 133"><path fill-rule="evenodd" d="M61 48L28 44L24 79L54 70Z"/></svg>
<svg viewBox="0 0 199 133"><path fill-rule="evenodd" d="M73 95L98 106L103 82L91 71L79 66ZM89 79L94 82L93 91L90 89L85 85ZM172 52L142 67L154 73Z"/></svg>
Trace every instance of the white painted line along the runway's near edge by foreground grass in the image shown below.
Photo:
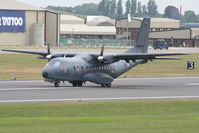
<svg viewBox="0 0 199 133"><path fill-rule="evenodd" d="M108 100L150 100L150 99L151 100L155 100L155 99L193 99L193 98L199 98L199 96L0 100L0 103L64 102L64 101L108 101Z"/></svg>

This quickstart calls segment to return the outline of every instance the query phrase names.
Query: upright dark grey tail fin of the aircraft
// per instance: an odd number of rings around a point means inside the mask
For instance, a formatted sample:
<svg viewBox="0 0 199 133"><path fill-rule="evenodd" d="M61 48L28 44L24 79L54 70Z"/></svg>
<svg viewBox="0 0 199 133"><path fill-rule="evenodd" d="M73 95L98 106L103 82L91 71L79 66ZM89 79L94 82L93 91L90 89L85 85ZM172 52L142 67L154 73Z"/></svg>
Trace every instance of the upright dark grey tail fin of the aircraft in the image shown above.
<svg viewBox="0 0 199 133"><path fill-rule="evenodd" d="M133 48L129 49L126 53L147 53L148 51L148 38L150 32L150 18L144 18L140 27L136 44Z"/></svg>

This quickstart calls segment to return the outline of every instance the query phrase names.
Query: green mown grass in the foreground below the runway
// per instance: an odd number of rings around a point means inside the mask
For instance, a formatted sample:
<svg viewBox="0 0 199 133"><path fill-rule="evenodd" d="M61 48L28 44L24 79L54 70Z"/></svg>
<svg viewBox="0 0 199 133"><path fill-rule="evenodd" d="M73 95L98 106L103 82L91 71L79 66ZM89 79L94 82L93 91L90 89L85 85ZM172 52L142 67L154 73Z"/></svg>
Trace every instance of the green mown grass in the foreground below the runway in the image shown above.
<svg viewBox="0 0 199 133"><path fill-rule="evenodd" d="M1 104L1 133L198 133L199 100Z"/></svg>

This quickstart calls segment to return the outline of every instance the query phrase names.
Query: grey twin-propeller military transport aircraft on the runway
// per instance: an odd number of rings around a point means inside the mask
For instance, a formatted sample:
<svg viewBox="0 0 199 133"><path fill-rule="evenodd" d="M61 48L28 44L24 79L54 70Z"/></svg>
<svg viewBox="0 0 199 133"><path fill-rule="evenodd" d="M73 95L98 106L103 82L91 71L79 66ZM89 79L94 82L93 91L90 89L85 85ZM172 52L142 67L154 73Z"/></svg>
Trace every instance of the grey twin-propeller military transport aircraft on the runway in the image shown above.
<svg viewBox="0 0 199 133"><path fill-rule="evenodd" d="M152 60L177 59L158 58L158 56L185 55L182 53L147 53L150 23L150 18L143 19L136 44L123 54L104 54L104 47L100 54L51 53L49 47L47 52L8 49L2 51L37 54L48 59L49 62L43 68L43 77L46 81L54 83L55 87L59 87L62 81L68 81L74 87L81 87L87 81L100 84L102 87L111 87L115 78L138 64Z"/></svg>

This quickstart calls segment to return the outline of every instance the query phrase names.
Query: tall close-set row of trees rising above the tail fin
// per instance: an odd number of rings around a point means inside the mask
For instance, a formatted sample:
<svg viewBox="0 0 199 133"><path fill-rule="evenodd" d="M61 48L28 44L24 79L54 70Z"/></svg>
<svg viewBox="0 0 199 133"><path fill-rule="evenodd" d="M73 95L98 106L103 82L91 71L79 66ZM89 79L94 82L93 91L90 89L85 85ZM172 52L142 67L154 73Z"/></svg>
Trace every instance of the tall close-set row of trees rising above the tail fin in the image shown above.
<svg viewBox="0 0 199 133"><path fill-rule="evenodd" d="M147 5L142 5L137 0L127 0L125 2L125 9L123 8L122 0L102 0L98 5L98 11L111 18L123 18L130 14L132 17L157 17L157 4L154 0L149 0Z"/></svg>

